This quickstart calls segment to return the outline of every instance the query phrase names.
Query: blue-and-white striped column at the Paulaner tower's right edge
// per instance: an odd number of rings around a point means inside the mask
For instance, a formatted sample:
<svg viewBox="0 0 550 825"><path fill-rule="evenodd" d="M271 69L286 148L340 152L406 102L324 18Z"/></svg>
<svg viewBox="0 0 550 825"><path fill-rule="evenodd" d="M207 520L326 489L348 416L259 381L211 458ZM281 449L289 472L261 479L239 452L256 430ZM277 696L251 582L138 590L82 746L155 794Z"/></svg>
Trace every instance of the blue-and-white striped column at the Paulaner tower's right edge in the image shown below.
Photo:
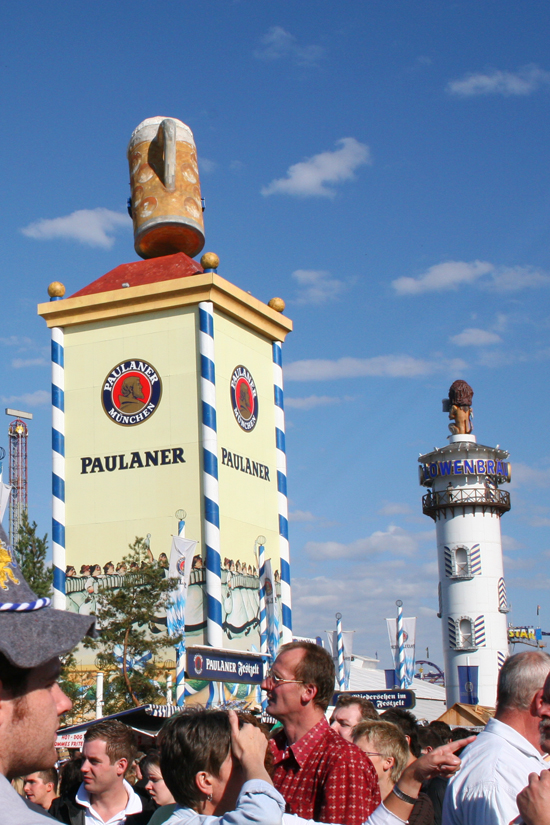
<svg viewBox="0 0 550 825"><path fill-rule="evenodd" d="M286 491L285 408L283 357L280 341L273 342L273 384L275 394L275 443L277 446L277 491L279 499L279 555L281 557L282 643L292 641L290 597L290 550L288 543L288 498Z"/></svg>

